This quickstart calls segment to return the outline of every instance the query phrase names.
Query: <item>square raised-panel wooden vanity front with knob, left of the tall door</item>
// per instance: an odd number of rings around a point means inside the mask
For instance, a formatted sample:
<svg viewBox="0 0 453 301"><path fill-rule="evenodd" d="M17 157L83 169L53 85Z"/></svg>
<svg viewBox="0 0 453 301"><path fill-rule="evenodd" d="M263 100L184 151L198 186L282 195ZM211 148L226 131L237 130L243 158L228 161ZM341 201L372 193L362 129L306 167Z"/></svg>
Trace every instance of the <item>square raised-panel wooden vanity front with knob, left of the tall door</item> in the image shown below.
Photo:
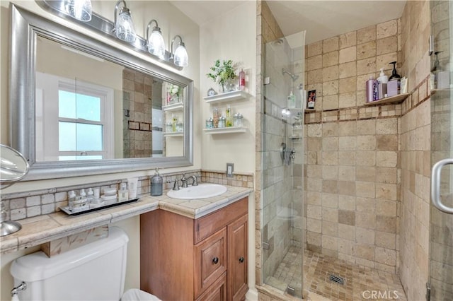
<svg viewBox="0 0 453 301"><path fill-rule="evenodd" d="M226 227L195 244L194 265L196 299L226 271Z"/></svg>

